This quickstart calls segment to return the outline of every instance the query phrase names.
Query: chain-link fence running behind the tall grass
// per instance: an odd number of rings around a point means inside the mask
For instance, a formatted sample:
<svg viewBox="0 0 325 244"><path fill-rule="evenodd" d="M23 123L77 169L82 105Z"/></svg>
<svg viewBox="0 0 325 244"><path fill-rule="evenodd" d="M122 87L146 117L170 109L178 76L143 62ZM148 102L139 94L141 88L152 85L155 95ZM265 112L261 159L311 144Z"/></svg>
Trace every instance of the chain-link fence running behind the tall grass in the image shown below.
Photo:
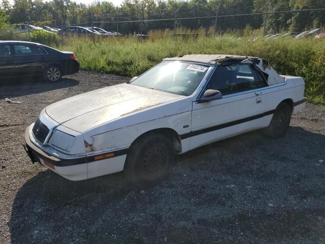
<svg viewBox="0 0 325 244"><path fill-rule="evenodd" d="M93 16L89 22L74 26L98 26L107 31L123 35L150 34L150 31L164 29L165 35L222 35L231 33L241 36L245 29L259 31L261 35L279 33L298 34L319 28L318 33L325 32L325 8L283 11L251 12L251 6L236 9L178 9L164 13L116 13ZM64 26L57 26L64 27ZM177 32L176 32L177 29ZM166 31L169 30L169 31ZM189 31L190 30L190 31ZM31 40L32 32L15 33L8 28L0 39ZM183 31L183 33L182 33Z"/></svg>

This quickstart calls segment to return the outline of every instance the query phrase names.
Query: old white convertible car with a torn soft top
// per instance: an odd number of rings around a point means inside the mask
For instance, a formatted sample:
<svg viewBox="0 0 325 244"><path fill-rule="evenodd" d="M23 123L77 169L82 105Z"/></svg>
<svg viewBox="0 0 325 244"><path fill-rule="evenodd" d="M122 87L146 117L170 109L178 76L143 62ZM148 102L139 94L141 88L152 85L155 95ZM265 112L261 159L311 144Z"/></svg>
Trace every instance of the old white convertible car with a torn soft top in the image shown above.
<svg viewBox="0 0 325 244"><path fill-rule="evenodd" d="M25 149L70 180L124 170L151 183L169 173L175 153L257 129L283 136L305 106L304 87L262 58L166 58L128 83L47 106L27 127Z"/></svg>

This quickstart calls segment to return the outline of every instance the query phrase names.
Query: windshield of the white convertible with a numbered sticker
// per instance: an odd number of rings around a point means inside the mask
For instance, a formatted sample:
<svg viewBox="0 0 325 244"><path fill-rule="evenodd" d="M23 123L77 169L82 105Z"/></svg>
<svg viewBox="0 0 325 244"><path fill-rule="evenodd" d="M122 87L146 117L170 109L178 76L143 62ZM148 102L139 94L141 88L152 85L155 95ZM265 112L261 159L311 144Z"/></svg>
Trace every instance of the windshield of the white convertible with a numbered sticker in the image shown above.
<svg viewBox="0 0 325 244"><path fill-rule="evenodd" d="M131 84L183 96L191 95L207 73L209 66L184 62L163 62Z"/></svg>

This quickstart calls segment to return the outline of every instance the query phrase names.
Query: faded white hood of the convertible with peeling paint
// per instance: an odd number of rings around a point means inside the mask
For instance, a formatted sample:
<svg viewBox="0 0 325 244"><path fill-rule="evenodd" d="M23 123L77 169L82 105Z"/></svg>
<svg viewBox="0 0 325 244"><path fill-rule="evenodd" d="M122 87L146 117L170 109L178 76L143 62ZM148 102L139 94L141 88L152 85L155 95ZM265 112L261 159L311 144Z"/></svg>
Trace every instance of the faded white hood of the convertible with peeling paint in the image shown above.
<svg viewBox="0 0 325 244"><path fill-rule="evenodd" d="M53 103L45 108L57 123L77 132L127 116L184 96L131 84L118 84L93 90Z"/></svg>

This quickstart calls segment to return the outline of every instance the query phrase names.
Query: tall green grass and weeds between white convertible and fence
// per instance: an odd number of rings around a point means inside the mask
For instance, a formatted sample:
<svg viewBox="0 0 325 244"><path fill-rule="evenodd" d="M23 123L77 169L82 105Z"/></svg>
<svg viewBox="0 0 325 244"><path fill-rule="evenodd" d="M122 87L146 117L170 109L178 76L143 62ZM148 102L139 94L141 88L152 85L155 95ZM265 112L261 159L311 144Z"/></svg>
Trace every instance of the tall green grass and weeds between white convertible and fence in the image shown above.
<svg viewBox="0 0 325 244"><path fill-rule="evenodd" d="M74 51L81 69L124 76L137 76L164 57L184 54L237 54L263 57L283 75L301 76L306 82L309 102L325 104L325 39L279 38L265 40L261 36L253 40L255 33L246 30L239 40L227 34L211 35L213 30L201 29L195 35L173 36L173 31L153 31L148 40L136 37L64 39L60 50ZM188 31L188 34L193 32ZM245 31L244 31L245 32ZM178 33L186 33L179 29ZM208 33L208 34L204 34Z"/></svg>

